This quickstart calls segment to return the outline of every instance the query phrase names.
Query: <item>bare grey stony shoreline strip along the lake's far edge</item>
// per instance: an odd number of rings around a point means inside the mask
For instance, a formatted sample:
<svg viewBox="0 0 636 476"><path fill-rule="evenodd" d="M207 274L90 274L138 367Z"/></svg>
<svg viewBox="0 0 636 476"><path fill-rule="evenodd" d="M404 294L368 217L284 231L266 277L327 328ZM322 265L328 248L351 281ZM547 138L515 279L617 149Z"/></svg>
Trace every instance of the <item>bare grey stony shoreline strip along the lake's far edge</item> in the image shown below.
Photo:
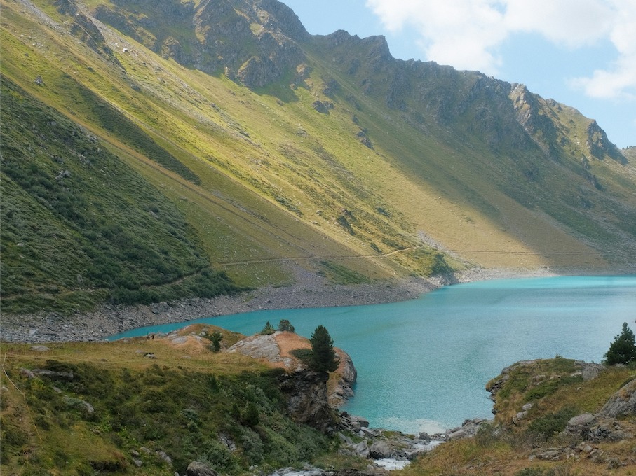
<svg viewBox="0 0 636 476"><path fill-rule="evenodd" d="M102 304L95 311L62 316L57 313L3 315L0 320L2 342L79 342L100 341L126 330L147 325L184 323L202 317L226 316L264 309L300 309L384 304L417 299L424 293L454 283L560 276L552 269L473 268L452 276L424 279L408 277L370 284L338 285L327 282L301 267L292 269L294 283L285 287L265 286L237 295L211 299L191 298L177 302L119 306ZM604 274L576 272L564 274Z"/></svg>

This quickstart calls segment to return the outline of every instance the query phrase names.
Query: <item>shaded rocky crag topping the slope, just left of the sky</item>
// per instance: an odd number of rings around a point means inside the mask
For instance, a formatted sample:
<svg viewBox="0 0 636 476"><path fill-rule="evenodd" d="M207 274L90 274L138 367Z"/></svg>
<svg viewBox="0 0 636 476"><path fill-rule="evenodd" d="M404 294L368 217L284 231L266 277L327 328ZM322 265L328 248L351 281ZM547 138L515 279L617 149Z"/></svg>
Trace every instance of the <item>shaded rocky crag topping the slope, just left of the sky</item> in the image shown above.
<svg viewBox="0 0 636 476"><path fill-rule="evenodd" d="M309 37L292 10L275 0L113 3L97 6L95 18L183 66L225 73L251 88L273 83L301 63L297 42Z"/></svg>

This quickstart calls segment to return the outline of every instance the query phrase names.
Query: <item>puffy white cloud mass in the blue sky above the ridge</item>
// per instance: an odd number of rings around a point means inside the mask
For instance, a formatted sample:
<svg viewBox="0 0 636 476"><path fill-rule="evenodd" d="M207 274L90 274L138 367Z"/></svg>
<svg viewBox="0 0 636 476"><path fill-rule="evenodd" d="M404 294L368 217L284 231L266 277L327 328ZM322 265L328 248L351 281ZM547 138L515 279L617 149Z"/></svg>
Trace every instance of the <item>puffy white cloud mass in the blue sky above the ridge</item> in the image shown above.
<svg viewBox="0 0 636 476"><path fill-rule="evenodd" d="M618 59L571 85L590 97L636 97L636 0L367 0L390 31L419 31L427 59L496 74L499 48L538 34L561 48L610 41Z"/></svg>

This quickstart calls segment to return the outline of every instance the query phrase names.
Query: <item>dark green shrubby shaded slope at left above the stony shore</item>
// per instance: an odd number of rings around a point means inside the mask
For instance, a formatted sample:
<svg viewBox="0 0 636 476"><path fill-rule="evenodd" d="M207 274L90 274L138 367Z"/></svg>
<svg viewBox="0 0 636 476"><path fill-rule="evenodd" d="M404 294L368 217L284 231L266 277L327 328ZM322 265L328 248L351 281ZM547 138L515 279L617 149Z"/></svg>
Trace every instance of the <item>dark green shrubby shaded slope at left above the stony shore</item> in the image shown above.
<svg viewBox="0 0 636 476"><path fill-rule="evenodd" d="M73 311L104 298L149 303L238 290L210 269L174 204L6 77L2 89L5 311Z"/></svg>

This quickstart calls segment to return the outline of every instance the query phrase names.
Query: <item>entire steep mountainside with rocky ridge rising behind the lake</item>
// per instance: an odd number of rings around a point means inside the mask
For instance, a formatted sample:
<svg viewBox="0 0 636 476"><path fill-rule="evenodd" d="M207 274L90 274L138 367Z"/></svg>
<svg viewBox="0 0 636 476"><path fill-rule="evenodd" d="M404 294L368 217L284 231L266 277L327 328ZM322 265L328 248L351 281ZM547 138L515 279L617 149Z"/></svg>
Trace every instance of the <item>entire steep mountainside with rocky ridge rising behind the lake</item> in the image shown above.
<svg viewBox="0 0 636 476"><path fill-rule="evenodd" d="M5 311L633 270L633 153L524 85L276 0L0 2Z"/></svg>

